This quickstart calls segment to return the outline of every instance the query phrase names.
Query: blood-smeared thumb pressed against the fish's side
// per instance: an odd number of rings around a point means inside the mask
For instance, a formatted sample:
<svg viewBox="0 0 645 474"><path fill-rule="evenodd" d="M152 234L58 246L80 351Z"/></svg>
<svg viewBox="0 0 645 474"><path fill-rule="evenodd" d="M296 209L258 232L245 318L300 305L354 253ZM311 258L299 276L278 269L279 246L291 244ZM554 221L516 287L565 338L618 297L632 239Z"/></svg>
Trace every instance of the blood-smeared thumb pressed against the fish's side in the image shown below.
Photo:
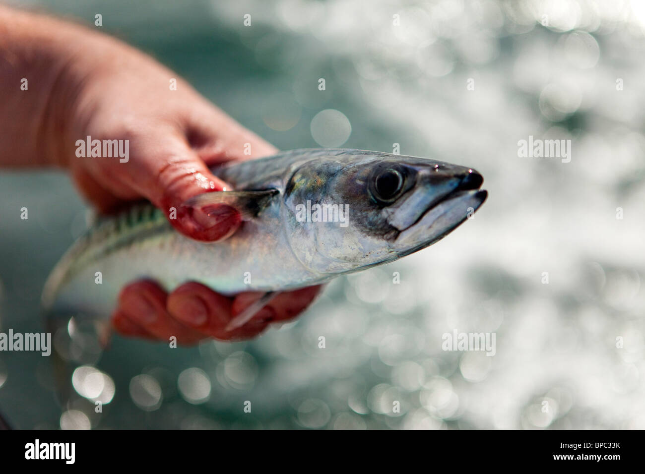
<svg viewBox="0 0 645 474"><path fill-rule="evenodd" d="M237 230L241 215L230 206L221 204L206 212L182 205L204 192L231 189L208 170L183 137L166 135L137 148L131 164L125 163L132 167L127 173L130 185L161 209L175 229L199 241L226 239Z"/></svg>

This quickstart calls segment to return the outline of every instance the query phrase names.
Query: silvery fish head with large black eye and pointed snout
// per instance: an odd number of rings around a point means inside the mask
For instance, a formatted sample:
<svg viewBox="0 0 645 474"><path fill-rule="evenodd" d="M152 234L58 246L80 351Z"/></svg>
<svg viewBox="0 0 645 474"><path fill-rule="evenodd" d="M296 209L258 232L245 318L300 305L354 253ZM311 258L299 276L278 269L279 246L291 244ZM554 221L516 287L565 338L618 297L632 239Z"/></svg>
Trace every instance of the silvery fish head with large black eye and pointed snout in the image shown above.
<svg viewBox="0 0 645 474"><path fill-rule="evenodd" d="M482 175L442 161L344 150L301 164L284 193L298 259L319 273L348 273L421 250L484 202Z"/></svg>

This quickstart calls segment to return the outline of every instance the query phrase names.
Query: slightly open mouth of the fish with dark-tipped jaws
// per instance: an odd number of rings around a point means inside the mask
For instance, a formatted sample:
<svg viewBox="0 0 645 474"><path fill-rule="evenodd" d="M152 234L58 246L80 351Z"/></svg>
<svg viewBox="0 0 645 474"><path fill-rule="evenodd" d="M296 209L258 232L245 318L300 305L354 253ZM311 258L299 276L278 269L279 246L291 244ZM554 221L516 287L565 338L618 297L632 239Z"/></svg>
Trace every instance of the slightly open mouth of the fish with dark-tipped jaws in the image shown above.
<svg viewBox="0 0 645 474"><path fill-rule="evenodd" d="M483 183L484 177L482 177L480 173L476 172L475 170L468 170L468 173L459 182L459 184L457 184L457 187L453 188L453 190L442 195L438 199L432 201L430 203L430 206L428 206L428 208L426 208L426 210L421 213L421 215L415 222L401 230L399 236L405 233L407 230L410 230L413 227L417 226L417 224L419 224L420 222L426 220L430 213L433 214L433 217L435 219L439 219L439 217L441 217L445 213L448 213L455 208L459 208L458 202L467 202L468 204L471 204L470 206L464 208L464 215L462 219L459 219L457 222L455 222L454 226L450 228L450 230L453 230L455 227L465 221L471 213L477 211L477 209L479 209L479 207L484 204L484 201L486 201L486 198L488 197L488 191L480 189ZM470 208L472 208L472 211L470 211ZM450 230L448 230L448 232L450 232ZM443 235L446 235L446 233L443 233L442 237Z"/></svg>

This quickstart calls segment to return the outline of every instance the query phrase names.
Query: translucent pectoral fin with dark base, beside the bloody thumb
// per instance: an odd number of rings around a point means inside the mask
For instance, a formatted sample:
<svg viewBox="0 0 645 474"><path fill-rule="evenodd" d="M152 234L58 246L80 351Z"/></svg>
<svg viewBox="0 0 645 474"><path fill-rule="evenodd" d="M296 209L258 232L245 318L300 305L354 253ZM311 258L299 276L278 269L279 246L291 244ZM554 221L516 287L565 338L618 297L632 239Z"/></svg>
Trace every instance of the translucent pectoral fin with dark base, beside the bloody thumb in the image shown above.
<svg viewBox="0 0 645 474"><path fill-rule="evenodd" d="M199 208L208 213L208 208L226 204L235 208L242 216L243 221L250 221L257 217L270 204L271 199L279 193L277 189L203 193L188 199L182 206Z"/></svg>

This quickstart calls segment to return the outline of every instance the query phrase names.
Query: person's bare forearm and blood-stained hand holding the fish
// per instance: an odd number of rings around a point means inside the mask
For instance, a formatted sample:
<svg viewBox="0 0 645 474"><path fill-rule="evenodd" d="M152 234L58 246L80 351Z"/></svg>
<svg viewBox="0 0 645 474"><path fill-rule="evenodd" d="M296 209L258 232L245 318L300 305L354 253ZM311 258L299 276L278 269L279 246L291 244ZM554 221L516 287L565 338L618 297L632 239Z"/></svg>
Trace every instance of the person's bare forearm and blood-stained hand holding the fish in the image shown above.
<svg viewBox="0 0 645 474"><path fill-rule="evenodd" d="M27 90L21 90L27 79ZM176 79L176 90L170 87ZM231 189L208 167L258 158L275 148L142 52L107 35L46 15L0 5L0 166L58 167L70 172L101 213L148 199L175 229L199 241L220 241L240 225L228 206L183 208L203 192ZM129 159L77 157L76 141L127 139ZM250 144L250 155L244 154ZM176 219L170 219L172 210ZM226 325L259 293L230 298L186 282L170 293L154 281L128 284L112 315L126 336L181 344L248 339L272 322L293 319L319 286L282 293L241 328Z"/></svg>

